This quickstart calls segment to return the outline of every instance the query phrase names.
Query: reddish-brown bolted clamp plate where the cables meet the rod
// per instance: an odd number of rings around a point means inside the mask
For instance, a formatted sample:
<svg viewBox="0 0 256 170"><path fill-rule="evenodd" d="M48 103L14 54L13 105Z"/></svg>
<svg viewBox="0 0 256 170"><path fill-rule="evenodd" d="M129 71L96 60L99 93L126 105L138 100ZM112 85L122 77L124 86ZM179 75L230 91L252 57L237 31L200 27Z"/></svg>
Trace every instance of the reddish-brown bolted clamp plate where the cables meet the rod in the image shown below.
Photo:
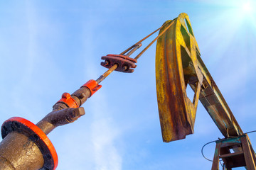
<svg viewBox="0 0 256 170"><path fill-rule="evenodd" d="M100 64L107 69L110 69L114 64L117 64L117 72L127 72L132 73L137 66L134 63L137 63L137 60L127 57L126 55L107 55L103 56L102 60L105 62L101 62Z"/></svg>

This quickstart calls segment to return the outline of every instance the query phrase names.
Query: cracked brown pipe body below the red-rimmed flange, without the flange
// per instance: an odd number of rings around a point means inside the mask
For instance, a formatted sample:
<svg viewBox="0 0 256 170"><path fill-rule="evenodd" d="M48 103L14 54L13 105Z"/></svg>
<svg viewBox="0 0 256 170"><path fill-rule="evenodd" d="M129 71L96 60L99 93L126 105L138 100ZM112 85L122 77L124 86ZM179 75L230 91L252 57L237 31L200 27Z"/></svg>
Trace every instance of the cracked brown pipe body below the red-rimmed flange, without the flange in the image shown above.
<svg viewBox="0 0 256 170"><path fill-rule="evenodd" d="M35 170L43 166L43 154L26 135L11 132L0 143L0 170Z"/></svg>

